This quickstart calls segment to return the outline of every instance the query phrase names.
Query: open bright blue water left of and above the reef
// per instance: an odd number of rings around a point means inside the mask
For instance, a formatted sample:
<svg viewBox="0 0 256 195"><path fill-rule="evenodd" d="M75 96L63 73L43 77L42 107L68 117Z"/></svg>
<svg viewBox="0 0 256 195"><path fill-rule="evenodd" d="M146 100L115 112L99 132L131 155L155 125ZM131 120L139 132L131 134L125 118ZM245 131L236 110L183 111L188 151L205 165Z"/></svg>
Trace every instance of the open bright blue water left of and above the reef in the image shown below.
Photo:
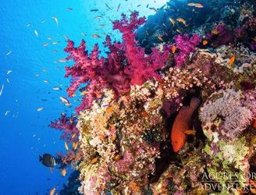
<svg viewBox="0 0 256 195"><path fill-rule="evenodd" d="M165 2L1 2L0 90L2 85L3 90L0 97L0 194L48 194L48 189L59 186L56 190L59 192L62 184L66 183L67 176L62 178L58 169L50 172L38 162L39 154L65 152L64 143L59 140L60 132L48 128L48 124L60 113L74 110L73 107L67 108L59 99L60 96L66 97L65 88L69 85L69 79L64 78L66 64L58 62L66 57L62 51L66 47L63 36L68 36L76 45L84 38L90 50L94 43L105 40L105 34L120 39L118 32L112 31L110 20L119 19L122 12L129 14L130 10L136 9L140 16L148 16L154 13L146 8L148 4L149 7L159 8ZM108 10L105 3L112 10ZM98 12L91 12L90 9L98 9ZM101 18L95 19L95 16ZM58 25L52 17L58 19ZM99 27L100 24L105 27ZM93 38L92 34L99 34L102 38ZM59 44L52 44L55 41ZM45 42L49 45L44 47ZM100 46L103 51L102 44ZM53 52L55 50L58 52ZM12 72L7 74L9 70ZM52 87L62 87L62 90L55 91ZM70 101L73 103L73 100ZM44 109L37 112L39 107Z"/></svg>

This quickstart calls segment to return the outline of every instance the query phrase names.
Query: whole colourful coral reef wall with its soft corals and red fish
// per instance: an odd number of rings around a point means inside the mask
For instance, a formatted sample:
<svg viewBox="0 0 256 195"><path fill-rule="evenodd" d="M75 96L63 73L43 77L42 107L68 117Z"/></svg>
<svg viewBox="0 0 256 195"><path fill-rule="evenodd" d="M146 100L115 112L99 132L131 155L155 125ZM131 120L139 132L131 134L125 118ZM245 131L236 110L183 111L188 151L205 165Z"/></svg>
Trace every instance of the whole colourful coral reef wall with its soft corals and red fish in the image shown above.
<svg viewBox="0 0 256 195"><path fill-rule="evenodd" d="M59 156L79 170L76 193L256 191L254 12L253 2L173 1L158 20L114 21L123 41L107 36L106 57L68 41L68 93L84 97L50 126L73 146Z"/></svg>

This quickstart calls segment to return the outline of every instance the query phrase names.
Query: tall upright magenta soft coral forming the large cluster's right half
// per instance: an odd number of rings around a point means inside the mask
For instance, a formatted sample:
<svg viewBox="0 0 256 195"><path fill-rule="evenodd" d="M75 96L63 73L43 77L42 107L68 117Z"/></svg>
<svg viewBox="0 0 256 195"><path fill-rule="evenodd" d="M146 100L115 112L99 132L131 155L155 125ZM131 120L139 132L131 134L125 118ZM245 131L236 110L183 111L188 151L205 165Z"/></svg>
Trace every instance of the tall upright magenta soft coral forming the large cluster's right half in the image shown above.
<svg viewBox="0 0 256 195"><path fill-rule="evenodd" d="M155 77L160 78L157 69L161 69L169 58L169 46L163 52L152 48L151 55L145 55L144 48L136 44L137 27L145 23L145 18L137 19L138 12L133 12L130 21L126 15L122 15L122 20L114 22L113 29L118 29L123 34L123 43L116 43L115 46L125 51L125 56L129 66L125 67L125 73L131 77L131 84L140 85L145 81Z"/></svg>

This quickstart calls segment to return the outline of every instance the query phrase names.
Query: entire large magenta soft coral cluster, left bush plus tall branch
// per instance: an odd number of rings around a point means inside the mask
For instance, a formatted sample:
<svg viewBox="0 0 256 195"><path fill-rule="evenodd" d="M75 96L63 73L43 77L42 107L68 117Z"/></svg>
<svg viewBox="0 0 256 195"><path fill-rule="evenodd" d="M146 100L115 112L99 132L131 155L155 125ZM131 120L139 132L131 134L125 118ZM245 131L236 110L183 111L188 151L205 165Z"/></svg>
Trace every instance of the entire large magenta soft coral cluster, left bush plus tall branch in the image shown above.
<svg viewBox="0 0 256 195"><path fill-rule="evenodd" d="M149 79L160 78L157 70L167 62L170 46L166 45L164 51L152 48L151 55L145 55L144 48L138 46L135 39L135 30L145 22L145 19L138 19L137 16L138 13L133 12L130 20L127 20L123 14L122 20L113 23L113 28L123 34L123 43L112 44L110 37L106 37L105 47L109 49L107 58L99 57L98 44L94 45L89 55L84 40L78 48L74 47L73 41L68 41L65 48L69 53L67 59L73 59L75 64L66 67L66 76L72 77L72 83L67 91L69 96L72 96L81 84L85 84L85 87L80 90L87 90L76 112L90 108L92 101L100 98L102 88L111 88L115 91L116 97L119 97L130 90L130 85L140 85Z"/></svg>

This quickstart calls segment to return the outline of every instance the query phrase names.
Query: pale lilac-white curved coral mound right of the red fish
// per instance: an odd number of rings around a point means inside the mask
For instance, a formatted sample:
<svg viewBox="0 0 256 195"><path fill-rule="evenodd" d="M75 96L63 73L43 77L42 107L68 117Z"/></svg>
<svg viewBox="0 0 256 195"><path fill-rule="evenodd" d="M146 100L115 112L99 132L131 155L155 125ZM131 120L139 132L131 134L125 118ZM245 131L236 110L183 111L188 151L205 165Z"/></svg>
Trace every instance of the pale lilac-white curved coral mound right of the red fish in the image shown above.
<svg viewBox="0 0 256 195"><path fill-rule="evenodd" d="M219 115L224 118L222 127L226 129L226 131L222 131L222 134L229 138L237 137L250 125L253 113L249 108L242 105L241 101L244 96L241 91L219 90L211 97L220 95L222 97L204 103L200 112L200 119L204 123L213 122Z"/></svg>

